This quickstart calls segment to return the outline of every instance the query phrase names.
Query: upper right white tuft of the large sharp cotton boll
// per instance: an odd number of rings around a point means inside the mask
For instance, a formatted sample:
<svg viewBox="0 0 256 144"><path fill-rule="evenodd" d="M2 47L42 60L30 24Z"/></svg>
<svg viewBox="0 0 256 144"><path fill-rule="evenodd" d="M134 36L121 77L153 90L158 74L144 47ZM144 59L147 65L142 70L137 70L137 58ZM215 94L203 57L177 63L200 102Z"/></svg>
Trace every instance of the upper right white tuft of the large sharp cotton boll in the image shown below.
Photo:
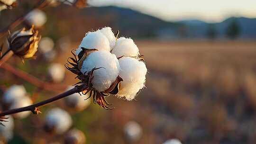
<svg viewBox="0 0 256 144"><path fill-rule="evenodd" d="M139 50L131 38L120 37L112 50L112 54L116 54L117 57L134 57L139 55Z"/></svg>

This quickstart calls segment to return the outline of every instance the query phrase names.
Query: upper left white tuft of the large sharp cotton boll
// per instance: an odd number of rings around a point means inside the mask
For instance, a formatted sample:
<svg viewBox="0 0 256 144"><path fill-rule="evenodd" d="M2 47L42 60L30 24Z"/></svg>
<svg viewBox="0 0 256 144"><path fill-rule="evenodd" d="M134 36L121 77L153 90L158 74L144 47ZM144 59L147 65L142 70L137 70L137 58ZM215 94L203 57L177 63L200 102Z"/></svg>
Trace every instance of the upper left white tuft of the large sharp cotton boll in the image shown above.
<svg viewBox="0 0 256 144"><path fill-rule="evenodd" d="M81 47L87 49L95 48L99 51L104 50L110 52L110 42L99 30L95 32L88 32L86 36L83 37L81 44L76 50L76 54L79 54L82 51Z"/></svg>

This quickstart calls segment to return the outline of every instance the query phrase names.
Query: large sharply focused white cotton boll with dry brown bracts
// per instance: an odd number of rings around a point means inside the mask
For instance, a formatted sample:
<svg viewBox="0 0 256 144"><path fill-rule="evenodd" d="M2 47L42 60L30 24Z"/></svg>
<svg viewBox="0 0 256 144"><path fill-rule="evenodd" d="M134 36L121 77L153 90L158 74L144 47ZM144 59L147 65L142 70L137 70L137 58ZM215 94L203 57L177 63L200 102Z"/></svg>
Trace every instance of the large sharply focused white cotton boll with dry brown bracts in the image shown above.
<svg viewBox="0 0 256 144"><path fill-rule="evenodd" d="M86 33L66 68L80 80L76 88L89 93L93 101L111 109L105 97L110 94L127 100L135 99L145 87L146 65L131 38L114 35L110 27Z"/></svg>

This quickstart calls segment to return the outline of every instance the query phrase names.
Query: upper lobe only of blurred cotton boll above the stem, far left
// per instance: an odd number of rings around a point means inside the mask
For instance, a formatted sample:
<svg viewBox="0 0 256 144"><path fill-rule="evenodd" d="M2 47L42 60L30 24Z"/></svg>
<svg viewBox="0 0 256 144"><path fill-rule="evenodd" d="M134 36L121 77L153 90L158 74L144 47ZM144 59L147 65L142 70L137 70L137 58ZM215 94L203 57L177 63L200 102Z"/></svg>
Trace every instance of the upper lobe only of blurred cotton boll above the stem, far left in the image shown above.
<svg viewBox="0 0 256 144"><path fill-rule="evenodd" d="M27 91L25 90L23 85L12 85L3 94L3 102L6 104L10 104L15 101L15 99L24 97L26 93Z"/></svg>

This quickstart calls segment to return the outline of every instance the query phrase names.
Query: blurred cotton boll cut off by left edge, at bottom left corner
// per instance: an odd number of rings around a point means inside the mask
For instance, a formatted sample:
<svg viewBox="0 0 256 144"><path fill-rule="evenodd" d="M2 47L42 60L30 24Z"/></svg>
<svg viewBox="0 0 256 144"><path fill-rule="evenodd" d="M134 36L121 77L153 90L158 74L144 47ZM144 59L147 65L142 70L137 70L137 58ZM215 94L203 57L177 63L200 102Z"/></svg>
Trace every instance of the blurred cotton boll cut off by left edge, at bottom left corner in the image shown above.
<svg viewBox="0 0 256 144"><path fill-rule="evenodd" d="M13 117L10 115L7 117L8 122L5 122L4 126L0 126L0 142L3 142L4 144L12 139L14 129Z"/></svg>

